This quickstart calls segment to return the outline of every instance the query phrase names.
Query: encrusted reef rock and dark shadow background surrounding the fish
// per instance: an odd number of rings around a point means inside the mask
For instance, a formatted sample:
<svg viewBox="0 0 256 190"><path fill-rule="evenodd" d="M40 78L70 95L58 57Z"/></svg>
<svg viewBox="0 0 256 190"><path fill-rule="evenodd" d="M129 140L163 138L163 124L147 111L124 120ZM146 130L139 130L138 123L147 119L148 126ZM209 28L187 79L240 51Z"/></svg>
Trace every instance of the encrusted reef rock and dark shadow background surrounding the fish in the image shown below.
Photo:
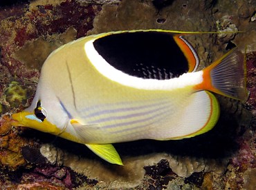
<svg viewBox="0 0 256 190"><path fill-rule="evenodd" d="M6 189L256 189L255 1L35 0L0 3L0 186ZM84 145L12 127L30 105L53 50L86 34L161 28L234 31L186 36L199 69L246 46L246 103L219 97L221 117L207 134L177 141L115 145L125 164L110 165Z"/></svg>

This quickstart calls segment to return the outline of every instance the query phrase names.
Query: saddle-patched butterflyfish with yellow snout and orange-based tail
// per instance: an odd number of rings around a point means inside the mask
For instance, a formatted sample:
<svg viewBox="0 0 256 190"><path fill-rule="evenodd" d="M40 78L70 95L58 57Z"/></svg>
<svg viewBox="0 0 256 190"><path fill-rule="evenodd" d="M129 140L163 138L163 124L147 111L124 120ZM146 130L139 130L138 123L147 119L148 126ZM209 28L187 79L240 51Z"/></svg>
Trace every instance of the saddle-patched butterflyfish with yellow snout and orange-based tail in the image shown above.
<svg viewBox="0 0 256 190"><path fill-rule="evenodd" d="M125 30L85 36L53 51L30 107L12 125L86 145L123 165L116 142L178 140L210 131L214 93L246 101L246 64L238 48L203 70L184 36L203 32Z"/></svg>

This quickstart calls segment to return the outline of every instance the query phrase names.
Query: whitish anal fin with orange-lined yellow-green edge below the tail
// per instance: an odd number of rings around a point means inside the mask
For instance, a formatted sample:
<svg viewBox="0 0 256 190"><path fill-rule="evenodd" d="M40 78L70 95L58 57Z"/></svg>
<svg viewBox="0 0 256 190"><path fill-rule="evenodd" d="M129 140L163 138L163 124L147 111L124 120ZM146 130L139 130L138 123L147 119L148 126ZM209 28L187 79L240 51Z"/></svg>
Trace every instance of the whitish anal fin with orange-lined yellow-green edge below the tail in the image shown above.
<svg viewBox="0 0 256 190"><path fill-rule="evenodd" d="M158 131L151 131L155 139L192 138L210 131L219 118L219 103L208 91L194 92L185 107L177 113L174 117L166 118L165 123L157 128Z"/></svg>

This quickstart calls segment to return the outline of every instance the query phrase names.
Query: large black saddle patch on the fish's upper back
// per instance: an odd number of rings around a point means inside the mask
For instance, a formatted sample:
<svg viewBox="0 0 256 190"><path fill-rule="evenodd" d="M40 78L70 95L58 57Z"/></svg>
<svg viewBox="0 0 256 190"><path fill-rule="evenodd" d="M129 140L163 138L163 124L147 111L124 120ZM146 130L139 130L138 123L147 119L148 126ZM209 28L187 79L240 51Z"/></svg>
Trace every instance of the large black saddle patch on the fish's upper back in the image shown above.
<svg viewBox="0 0 256 190"><path fill-rule="evenodd" d="M117 70L140 78L165 80L188 72L188 60L172 33L125 32L93 42L95 50Z"/></svg>

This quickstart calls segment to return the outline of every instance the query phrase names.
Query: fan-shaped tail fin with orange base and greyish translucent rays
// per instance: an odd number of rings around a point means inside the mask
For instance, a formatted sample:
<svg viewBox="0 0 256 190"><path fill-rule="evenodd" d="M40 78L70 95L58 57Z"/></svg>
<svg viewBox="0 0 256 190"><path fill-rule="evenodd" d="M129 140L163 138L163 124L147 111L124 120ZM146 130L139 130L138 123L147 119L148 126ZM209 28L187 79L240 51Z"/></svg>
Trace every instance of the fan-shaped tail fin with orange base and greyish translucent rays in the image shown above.
<svg viewBox="0 0 256 190"><path fill-rule="evenodd" d="M210 80L209 80L210 79ZM246 59L234 48L203 70L201 89L246 101ZM196 87L197 88L197 87Z"/></svg>

